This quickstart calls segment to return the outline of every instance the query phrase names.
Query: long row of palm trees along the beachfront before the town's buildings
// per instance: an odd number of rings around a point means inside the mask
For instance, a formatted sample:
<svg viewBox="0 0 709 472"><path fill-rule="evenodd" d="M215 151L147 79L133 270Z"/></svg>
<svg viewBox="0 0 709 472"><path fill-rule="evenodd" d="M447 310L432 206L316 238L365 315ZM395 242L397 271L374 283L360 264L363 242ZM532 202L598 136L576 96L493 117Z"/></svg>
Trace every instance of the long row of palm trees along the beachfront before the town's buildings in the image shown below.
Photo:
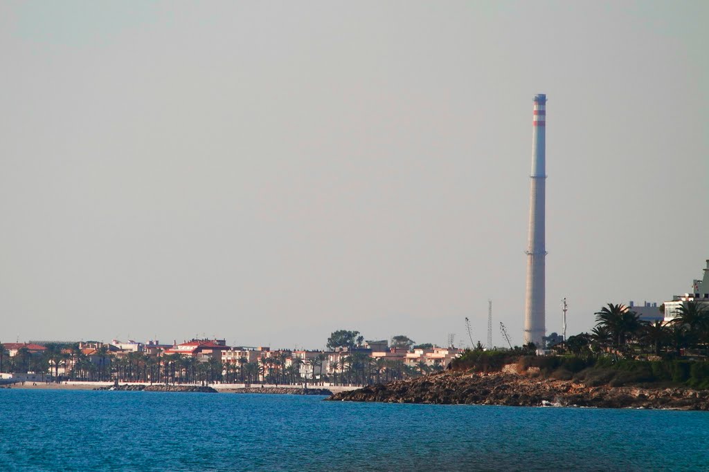
<svg viewBox="0 0 709 472"><path fill-rule="evenodd" d="M429 366L419 362L415 366L401 359L373 359L365 352L352 352L340 362L330 362L329 373L323 372L325 354L307 359L289 358L285 353L264 357L257 362L236 359L194 358L180 354L147 355L129 352L115 355L104 346L86 355L78 345L47 345L42 354L33 354L26 348L14 357L7 355L0 345L0 371L46 372L55 381L114 381L157 384L214 384L266 382L269 384L310 384L328 381L331 384L365 385L406 379L440 372L440 364ZM303 364L308 366L301 375Z"/></svg>

